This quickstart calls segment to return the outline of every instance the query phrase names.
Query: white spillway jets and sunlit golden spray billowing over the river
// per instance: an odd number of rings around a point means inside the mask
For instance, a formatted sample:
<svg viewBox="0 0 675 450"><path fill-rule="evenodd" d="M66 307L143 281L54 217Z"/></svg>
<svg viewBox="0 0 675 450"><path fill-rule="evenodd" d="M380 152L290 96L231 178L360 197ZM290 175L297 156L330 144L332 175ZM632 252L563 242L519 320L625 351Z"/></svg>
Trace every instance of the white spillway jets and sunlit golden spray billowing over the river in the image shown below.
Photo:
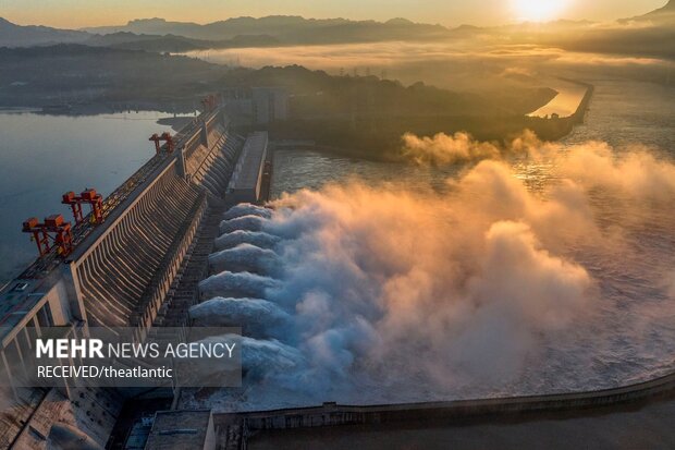
<svg viewBox="0 0 675 450"><path fill-rule="evenodd" d="M231 209L192 317L243 326L245 389L185 405L559 392L671 370L675 166L600 143L527 158L547 171L536 190L492 158L442 194L355 181Z"/></svg>

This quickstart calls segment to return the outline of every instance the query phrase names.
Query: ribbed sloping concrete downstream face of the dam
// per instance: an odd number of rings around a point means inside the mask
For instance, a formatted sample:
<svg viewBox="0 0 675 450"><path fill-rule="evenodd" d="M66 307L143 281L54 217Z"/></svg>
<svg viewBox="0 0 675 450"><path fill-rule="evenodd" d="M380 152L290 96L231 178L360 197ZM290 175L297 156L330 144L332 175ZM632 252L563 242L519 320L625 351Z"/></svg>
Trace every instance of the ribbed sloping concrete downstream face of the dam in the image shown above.
<svg viewBox="0 0 675 450"><path fill-rule="evenodd" d="M220 110L176 134L176 148L73 256L88 323L149 328L237 155ZM139 336L145 336L140 331Z"/></svg>

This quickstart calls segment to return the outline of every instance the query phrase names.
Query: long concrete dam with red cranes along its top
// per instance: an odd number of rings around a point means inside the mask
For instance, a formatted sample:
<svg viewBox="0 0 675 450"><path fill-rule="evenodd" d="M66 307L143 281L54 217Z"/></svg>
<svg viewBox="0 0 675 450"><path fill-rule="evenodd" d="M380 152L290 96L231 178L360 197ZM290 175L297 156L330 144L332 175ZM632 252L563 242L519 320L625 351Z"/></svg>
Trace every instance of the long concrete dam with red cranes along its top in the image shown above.
<svg viewBox="0 0 675 450"><path fill-rule="evenodd" d="M222 109L206 105L174 136L150 137L157 154L107 198L91 190L64 195L63 203L93 205L87 216L73 208L72 228L62 216L24 223L40 256L0 293L0 376L13 403L0 418L0 448L45 448L61 423L102 447L122 409L113 390L16 386L41 328L82 337L89 327L131 327L143 341L161 326L187 325L226 192L257 202L269 175L267 133L237 135Z"/></svg>

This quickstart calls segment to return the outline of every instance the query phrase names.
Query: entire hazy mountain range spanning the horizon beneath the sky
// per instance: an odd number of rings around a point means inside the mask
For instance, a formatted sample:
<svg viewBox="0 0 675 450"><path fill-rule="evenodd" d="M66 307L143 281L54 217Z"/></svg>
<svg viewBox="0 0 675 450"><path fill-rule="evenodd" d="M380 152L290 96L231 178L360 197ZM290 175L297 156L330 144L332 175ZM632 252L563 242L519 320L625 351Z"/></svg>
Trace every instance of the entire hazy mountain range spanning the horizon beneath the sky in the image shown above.
<svg viewBox="0 0 675 450"><path fill-rule="evenodd" d="M633 23L640 26L633 26ZM554 21L545 26L521 23L478 28L463 25L446 28L406 19L386 22L346 19L304 19L295 15L235 17L209 24L139 19L122 26L68 31L45 26L21 26L0 19L0 47L83 44L156 53L180 53L218 48L272 47L378 42L388 40L434 41L480 36L513 44L550 45L566 50L599 53L653 56L675 59L675 0L655 11L609 26L587 21ZM626 26L628 25L628 26Z"/></svg>

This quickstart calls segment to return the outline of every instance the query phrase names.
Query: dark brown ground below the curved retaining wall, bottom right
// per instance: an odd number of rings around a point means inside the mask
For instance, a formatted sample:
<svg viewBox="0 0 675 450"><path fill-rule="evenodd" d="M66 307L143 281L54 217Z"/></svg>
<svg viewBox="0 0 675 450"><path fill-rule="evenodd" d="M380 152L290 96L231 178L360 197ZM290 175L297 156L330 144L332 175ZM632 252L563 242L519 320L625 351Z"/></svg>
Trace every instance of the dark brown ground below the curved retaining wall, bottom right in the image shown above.
<svg viewBox="0 0 675 450"><path fill-rule="evenodd" d="M454 422L445 426L398 424L305 428L254 433L250 450L370 449L475 450L502 449L672 449L675 448L675 401L642 408L541 414L537 417Z"/></svg>

